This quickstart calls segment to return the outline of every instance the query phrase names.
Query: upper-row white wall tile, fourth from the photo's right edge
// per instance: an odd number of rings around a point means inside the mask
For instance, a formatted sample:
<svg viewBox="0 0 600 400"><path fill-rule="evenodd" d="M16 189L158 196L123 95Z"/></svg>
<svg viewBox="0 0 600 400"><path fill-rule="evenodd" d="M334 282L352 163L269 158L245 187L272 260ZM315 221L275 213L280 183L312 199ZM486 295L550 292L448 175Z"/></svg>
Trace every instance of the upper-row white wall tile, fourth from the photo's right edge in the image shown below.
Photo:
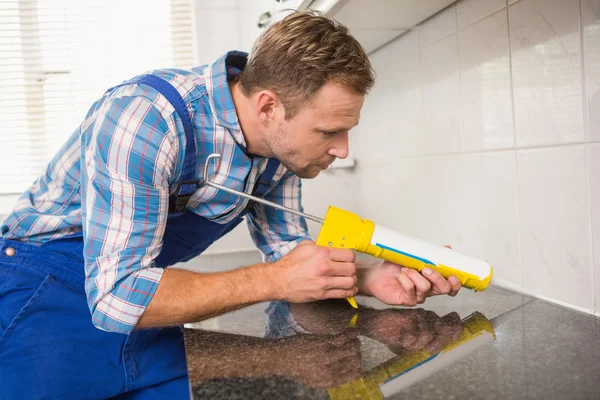
<svg viewBox="0 0 600 400"><path fill-rule="evenodd" d="M459 152L461 110L456 34L423 49L421 65L426 152Z"/></svg>

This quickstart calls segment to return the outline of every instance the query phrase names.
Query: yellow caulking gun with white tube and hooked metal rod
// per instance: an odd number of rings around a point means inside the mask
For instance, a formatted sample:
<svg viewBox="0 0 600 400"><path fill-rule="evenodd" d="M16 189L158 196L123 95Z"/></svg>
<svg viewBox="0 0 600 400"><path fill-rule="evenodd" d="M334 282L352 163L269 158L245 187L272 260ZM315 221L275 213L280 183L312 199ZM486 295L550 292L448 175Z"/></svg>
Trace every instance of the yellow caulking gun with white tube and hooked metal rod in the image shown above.
<svg viewBox="0 0 600 400"><path fill-rule="evenodd" d="M492 267L487 261L377 226L373 221L361 219L349 211L330 206L323 220L210 182L208 179L209 163L211 160L219 158L221 158L219 154L211 154L207 157L203 173L205 184L322 224L323 227L316 242L319 246L358 251L417 271L429 267L438 271L446 279L450 276L457 277L463 287L476 292L485 290L492 279ZM353 297L349 297L348 302L352 307L358 308Z"/></svg>

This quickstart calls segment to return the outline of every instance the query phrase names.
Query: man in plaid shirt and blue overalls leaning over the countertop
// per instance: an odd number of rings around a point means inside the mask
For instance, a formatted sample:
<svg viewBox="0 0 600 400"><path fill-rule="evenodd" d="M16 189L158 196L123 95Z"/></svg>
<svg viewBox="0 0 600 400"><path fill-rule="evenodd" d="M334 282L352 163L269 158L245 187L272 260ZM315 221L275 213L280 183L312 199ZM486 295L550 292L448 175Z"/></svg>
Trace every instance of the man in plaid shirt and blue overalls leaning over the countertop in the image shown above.
<svg viewBox="0 0 600 400"><path fill-rule="evenodd" d="M294 13L249 57L109 89L1 227L3 395L184 398L186 322L267 300L456 294L460 282L435 271L357 266L352 251L310 241L302 218L202 182L218 153L212 181L300 209L300 179L347 157L373 82L346 28ZM165 269L246 214L264 263Z"/></svg>

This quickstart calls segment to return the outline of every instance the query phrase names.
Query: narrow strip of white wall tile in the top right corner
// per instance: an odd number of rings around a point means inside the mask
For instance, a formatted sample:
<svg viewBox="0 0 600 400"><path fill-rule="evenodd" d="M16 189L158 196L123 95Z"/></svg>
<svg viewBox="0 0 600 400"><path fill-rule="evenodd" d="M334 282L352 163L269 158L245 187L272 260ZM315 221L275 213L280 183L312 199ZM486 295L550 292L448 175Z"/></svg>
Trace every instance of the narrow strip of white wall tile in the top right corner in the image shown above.
<svg viewBox="0 0 600 400"><path fill-rule="evenodd" d="M588 140L600 142L600 0L581 0Z"/></svg>

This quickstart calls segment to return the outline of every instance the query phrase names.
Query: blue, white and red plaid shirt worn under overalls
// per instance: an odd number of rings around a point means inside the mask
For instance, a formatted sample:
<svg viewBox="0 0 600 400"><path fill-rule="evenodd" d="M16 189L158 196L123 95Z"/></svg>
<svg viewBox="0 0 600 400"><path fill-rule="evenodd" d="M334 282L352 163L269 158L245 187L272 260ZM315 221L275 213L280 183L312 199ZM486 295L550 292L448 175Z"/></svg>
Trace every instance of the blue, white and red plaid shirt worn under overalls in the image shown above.
<svg viewBox="0 0 600 400"><path fill-rule="evenodd" d="M221 154L211 180L251 192L267 159L246 153L228 81L247 55L229 52L212 65L153 70L183 97L197 143L196 175L206 157ZM182 175L185 133L171 104L155 89L131 84L104 94L90 108L44 173L19 198L1 226L5 239L42 245L82 232L88 305L96 327L133 330L161 280L168 197ZM266 198L302 209L301 181L283 166ZM200 187L188 209L217 223L238 216L248 200ZM267 262L308 237L306 221L258 205L247 218Z"/></svg>

